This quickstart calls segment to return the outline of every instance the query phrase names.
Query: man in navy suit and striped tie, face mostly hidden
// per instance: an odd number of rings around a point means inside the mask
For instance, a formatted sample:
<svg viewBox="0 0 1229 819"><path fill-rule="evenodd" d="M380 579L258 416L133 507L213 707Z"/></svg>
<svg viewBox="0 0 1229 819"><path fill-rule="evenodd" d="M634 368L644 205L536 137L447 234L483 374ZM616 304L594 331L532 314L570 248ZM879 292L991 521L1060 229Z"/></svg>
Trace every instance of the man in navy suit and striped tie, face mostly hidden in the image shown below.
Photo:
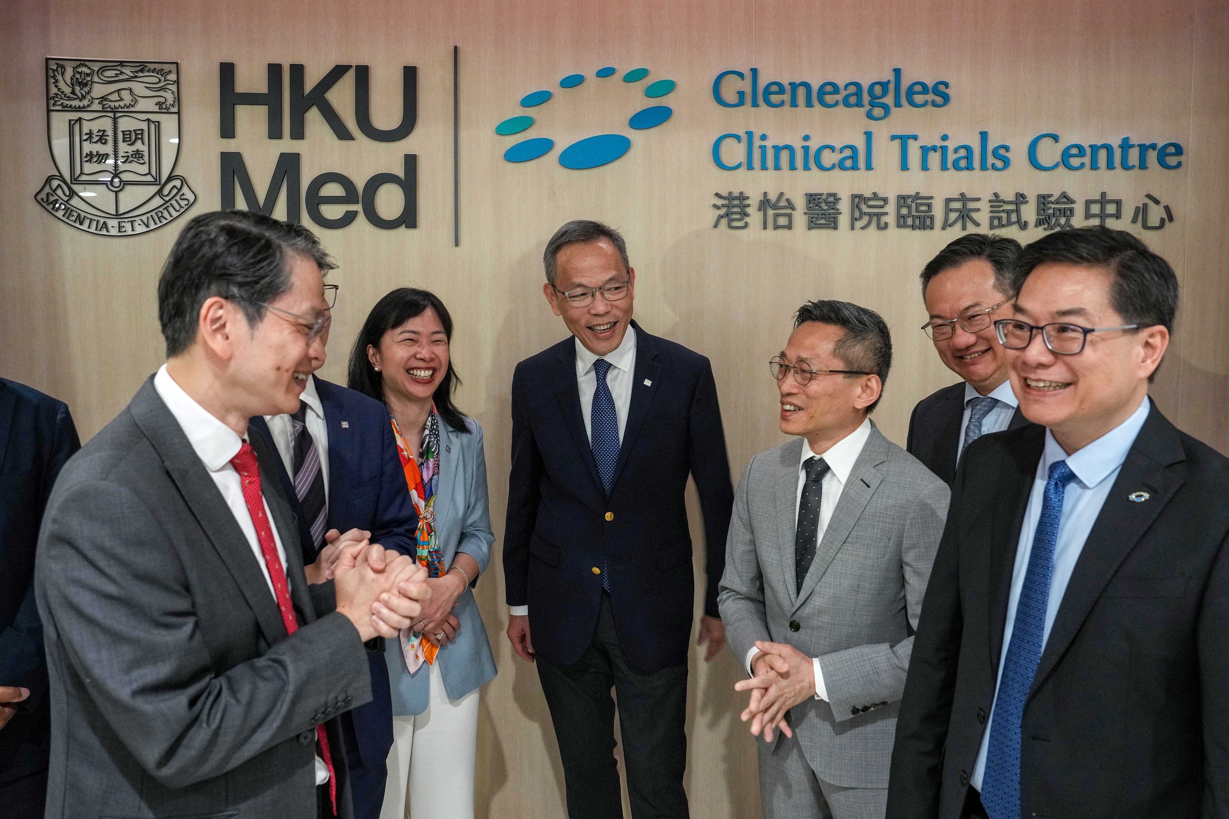
<svg viewBox="0 0 1229 819"><path fill-rule="evenodd" d="M326 285L332 307L336 285ZM323 332L328 342L328 330ZM281 488L299 520L307 579L323 568L320 552L337 532L359 529L372 544L415 555L418 513L397 456L388 410L361 392L313 375L324 357L307 355L295 378L306 382L299 412L252 418L281 455ZM324 347L320 349L323 352ZM312 566L312 564L316 566ZM383 804L388 749L392 748L392 694L383 638L366 644L371 702L342 714L350 796L356 819L376 819Z"/></svg>

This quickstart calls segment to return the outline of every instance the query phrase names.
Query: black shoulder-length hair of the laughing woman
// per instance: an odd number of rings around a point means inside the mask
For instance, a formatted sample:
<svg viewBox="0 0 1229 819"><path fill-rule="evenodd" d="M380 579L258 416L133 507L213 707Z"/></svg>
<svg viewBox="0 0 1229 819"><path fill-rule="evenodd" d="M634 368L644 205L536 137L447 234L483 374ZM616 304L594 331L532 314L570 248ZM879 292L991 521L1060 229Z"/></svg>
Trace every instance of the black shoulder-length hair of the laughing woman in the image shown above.
<svg viewBox="0 0 1229 819"><path fill-rule="evenodd" d="M397 288L380 299L376 306L371 307L371 312L367 314L367 320L363 322L363 330L359 331L359 337L354 339L354 349L350 350L350 370L347 386L371 396L381 403L387 403L383 395L383 376L376 373L376 368L371 366L371 360L367 358L367 344L380 349L380 339L383 338L386 332L395 327L401 327L414 316L426 312L428 309L434 310L435 315L440 317L440 323L444 326L444 336L449 339L449 344L451 344L452 316L449 315L449 309L444 306L444 301L430 290ZM449 427L458 433L468 433L469 428L465 423L465 413L457 410L456 403L452 402L452 395L458 386L461 386L461 376L457 375L456 366L452 364L452 353L450 349L449 369L444 374L444 378L440 379L431 397L435 401L435 411L440 413L440 418Z"/></svg>

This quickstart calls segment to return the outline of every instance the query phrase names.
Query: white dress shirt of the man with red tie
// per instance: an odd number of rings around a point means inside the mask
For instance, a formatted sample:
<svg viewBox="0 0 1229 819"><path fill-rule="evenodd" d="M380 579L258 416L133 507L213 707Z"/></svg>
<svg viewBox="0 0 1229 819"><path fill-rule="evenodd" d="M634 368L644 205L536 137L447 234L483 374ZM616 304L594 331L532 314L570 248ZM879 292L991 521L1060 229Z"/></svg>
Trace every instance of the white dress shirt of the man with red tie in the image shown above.
<svg viewBox="0 0 1229 819"><path fill-rule="evenodd" d="M256 564L261 568L261 574L269 587L269 594L277 600L278 595L273 590L273 579L269 578L269 567L264 564L264 552L261 551L261 541L256 536L252 513L248 512L247 501L243 499L243 481L230 462L232 457L238 455L238 450L242 448L246 437L240 438L234 429L210 414L208 410L184 392L183 387L176 384L171 374L166 371L166 364L160 366L157 374L154 376L154 389L157 391L159 397L162 398L162 403L166 405L166 408L171 411L171 414L179 423L183 434L188 437L188 443L192 444L192 450L200 459L200 462L204 464L209 477L213 478L214 485L221 493L222 501L226 502L226 507L235 515L235 523L243 531L247 545L252 547L252 553L256 556ZM263 501L263 503L264 515L269 520L273 520L273 513L269 512L269 503L267 501ZM281 537L278 535L278 528L274 525L269 526L269 529L273 530L273 542L278 547L281 571L285 572L286 550L281 547ZM286 589L289 588L290 577L288 576ZM328 766L317 756L316 785L326 782L328 782Z"/></svg>

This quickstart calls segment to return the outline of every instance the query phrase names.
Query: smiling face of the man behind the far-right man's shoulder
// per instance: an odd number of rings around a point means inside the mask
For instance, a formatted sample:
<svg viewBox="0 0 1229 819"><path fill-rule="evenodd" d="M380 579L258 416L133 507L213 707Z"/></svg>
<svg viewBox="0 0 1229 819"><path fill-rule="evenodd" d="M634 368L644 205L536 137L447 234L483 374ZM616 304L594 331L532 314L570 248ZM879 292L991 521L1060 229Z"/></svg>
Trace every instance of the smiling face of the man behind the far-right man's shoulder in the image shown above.
<svg viewBox="0 0 1229 819"><path fill-rule="evenodd" d="M983 258L968 259L935 275L925 288L925 307L932 320L946 321L971 310L989 307L1007 296L994 289L994 268ZM1007 354L994 336L993 320L1004 318L1008 305L991 314L992 323L971 333L956 322L951 338L934 342L948 369L989 395L1007 380Z"/></svg>

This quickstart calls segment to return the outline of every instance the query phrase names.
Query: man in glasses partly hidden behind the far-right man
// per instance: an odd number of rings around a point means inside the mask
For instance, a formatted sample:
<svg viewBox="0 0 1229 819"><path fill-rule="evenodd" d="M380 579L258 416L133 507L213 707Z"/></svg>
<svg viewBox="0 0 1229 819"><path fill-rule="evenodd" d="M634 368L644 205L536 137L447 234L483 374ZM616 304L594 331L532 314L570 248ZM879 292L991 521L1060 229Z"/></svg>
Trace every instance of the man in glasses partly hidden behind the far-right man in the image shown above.
<svg viewBox="0 0 1229 819"><path fill-rule="evenodd" d="M966 234L922 269L930 320L922 330L961 381L918 401L906 450L950 486L961 453L981 435L1029 423L1007 378L993 321L1008 315L1011 266L1020 242Z"/></svg>

